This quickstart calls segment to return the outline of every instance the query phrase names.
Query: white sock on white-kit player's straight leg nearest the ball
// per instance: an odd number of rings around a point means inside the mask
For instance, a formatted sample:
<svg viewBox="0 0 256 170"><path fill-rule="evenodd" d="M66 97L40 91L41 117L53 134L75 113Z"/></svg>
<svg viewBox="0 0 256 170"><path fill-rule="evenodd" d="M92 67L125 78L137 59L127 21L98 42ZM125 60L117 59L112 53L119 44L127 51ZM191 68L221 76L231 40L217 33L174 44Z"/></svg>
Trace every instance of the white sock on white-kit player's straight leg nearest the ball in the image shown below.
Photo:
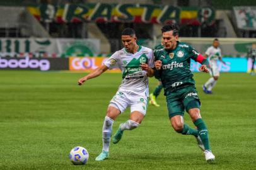
<svg viewBox="0 0 256 170"><path fill-rule="evenodd" d="M102 128L102 143L103 143L103 151L109 150L109 144L112 134L112 126L113 126L113 120L112 118L109 118L108 116L105 116L103 128Z"/></svg>

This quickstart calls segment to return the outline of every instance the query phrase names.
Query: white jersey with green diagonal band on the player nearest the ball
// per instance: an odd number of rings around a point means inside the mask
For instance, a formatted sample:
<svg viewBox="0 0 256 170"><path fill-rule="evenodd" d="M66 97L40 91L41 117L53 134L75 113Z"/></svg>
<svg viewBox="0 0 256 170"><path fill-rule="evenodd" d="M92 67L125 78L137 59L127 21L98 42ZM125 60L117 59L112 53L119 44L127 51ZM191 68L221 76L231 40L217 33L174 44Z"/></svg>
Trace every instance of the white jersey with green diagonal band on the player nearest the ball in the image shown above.
<svg viewBox="0 0 256 170"><path fill-rule="evenodd" d="M133 91L138 94L148 96L148 76L147 72L141 69L141 64L148 64L154 67L153 50L139 46L135 54L131 54L122 48L115 52L104 64L110 68L118 67L122 71L122 84L119 90Z"/></svg>

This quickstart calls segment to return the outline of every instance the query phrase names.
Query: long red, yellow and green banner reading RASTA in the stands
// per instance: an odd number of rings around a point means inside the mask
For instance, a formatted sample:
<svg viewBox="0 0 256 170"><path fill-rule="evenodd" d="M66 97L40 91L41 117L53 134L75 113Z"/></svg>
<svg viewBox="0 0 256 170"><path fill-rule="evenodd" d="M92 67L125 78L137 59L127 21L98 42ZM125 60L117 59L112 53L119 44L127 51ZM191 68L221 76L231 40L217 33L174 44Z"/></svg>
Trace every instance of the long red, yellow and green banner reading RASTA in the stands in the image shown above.
<svg viewBox="0 0 256 170"><path fill-rule="evenodd" d="M211 24L215 12L212 8L204 7L175 7L153 4L65 4L53 6L42 4L30 6L28 11L40 21L63 22L135 22L135 23L190 23L200 25ZM50 11L50 12L49 12Z"/></svg>

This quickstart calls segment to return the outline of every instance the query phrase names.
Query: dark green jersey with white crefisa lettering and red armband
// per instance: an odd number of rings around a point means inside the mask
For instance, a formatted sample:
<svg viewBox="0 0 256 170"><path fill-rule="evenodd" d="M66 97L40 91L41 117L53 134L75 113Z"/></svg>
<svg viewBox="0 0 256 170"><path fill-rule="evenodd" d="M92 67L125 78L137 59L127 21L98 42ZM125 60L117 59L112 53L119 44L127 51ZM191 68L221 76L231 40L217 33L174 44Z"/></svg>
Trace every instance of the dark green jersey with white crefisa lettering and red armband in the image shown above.
<svg viewBox="0 0 256 170"><path fill-rule="evenodd" d="M178 86L194 86L195 81L190 71L190 59L197 62L207 60L187 43L177 42L174 50L157 48L154 50L155 60L161 60L160 71L155 71L155 77L161 79L163 88L166 90L177 88ZM209 62L208 64L209 65Z"/></svg>

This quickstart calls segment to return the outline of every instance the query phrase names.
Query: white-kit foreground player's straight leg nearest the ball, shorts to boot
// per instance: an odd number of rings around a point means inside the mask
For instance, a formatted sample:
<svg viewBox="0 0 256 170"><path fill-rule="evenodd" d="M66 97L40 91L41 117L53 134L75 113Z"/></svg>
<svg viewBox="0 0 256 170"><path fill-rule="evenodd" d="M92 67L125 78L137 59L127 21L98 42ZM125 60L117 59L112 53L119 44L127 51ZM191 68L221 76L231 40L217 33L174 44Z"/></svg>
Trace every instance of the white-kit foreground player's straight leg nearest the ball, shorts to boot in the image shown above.
<svg viewBox="0 0 256 170"><path fill-rule="evenodd" d="M96 161L103 161L104 159L108 158L113 122L117 116L120 115L125 108L127 108L127 105L128 103L125 94L117 91L115 96L113 96L112 100L110 101L110 105L108 106L107 115L105 116L102 128L102 153L96 157Z"/></svg>

